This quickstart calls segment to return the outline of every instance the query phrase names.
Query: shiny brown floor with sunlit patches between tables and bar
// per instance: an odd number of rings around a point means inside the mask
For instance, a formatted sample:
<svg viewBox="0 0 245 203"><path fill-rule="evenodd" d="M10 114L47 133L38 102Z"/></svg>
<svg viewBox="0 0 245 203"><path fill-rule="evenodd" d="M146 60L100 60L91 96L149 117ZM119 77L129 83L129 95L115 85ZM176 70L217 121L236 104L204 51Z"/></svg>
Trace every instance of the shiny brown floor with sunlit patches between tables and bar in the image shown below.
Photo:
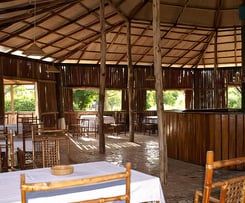
<svg viewBox="0 0 245 203"><path fill-rule="evenodd" d="M63 148L66 145L62 145ZM135 135L135 142L128 142L128 136L106 136L106 153L99 153L98 139L91 137L74 138L70 149L70 159L62 154L63 163L108 161L132 168L147 174L159 176L158 136ZM62 149L65 150L65 149ZM244 172L245 173L245 172ZM201 189L204 167L174 159L168 159L168 181L163 185L167 203L191 203L196 189Z"/></svg>

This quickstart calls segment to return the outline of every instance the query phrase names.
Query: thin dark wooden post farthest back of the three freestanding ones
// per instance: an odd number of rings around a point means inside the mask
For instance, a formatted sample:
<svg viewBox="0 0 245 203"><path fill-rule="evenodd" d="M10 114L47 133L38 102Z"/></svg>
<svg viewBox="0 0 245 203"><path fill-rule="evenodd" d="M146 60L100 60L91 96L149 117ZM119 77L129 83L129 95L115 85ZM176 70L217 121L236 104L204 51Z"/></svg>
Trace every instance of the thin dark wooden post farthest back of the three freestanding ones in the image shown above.
<svg viewBox="0 0 245 203"><path fill-rule="evenodd" d="M131 23L127 25L127 47L128 47L128 108L129 108L129 141L134 142L134 70L131 54Z"/></svg>

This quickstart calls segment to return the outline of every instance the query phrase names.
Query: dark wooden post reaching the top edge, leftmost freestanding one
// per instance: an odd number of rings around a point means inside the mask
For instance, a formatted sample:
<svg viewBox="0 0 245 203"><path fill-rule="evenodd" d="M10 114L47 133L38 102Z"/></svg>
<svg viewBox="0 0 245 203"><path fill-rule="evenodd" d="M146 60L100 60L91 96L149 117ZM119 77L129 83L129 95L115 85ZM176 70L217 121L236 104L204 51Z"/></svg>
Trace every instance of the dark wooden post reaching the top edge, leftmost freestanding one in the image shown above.
<svg viewBox="0 0 245 203"><path fill-rule="evenodd" d="M105 153L104 135L104 103L105 103L105 79L106 79L106 34L105 34L105 1L100 0L100 29L101 29L101 62L100 62L100 90L99 90L99 152Z"/></svg>

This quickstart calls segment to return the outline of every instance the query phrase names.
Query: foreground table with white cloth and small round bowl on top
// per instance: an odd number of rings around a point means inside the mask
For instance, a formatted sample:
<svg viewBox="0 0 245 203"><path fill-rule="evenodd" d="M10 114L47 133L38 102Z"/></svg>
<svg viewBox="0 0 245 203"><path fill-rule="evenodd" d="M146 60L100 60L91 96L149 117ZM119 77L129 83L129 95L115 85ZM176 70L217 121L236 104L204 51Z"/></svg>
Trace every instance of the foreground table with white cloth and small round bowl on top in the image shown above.
<svg viewBox="0 0 245 203"><path fill-rule="evenodd" d="M66 176L51 175L50 168L15 171L0 174L0 203L20 203L20 174L25 173L26 182L56 181L64 179L85 178L97 175L106 175L124 171L125 168L109 162L90 162L74 165L74 173ZM117 185L95 184L77 188L27 193L28 203L73 202L98 198L102 195L121 194L125 190L123 181ZM48 193L48 194L47 194ZM165 203L160 179L145 173L132 170L131 173L131 203L159 200Z"/></svg>

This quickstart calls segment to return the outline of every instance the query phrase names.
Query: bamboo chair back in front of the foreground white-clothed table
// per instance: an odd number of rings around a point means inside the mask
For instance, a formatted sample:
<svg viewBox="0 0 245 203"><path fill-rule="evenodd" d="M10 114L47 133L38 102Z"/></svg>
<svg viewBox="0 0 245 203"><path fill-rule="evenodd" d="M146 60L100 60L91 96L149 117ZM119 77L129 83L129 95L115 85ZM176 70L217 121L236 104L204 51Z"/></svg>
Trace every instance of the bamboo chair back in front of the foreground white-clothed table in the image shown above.
<svg viewBox="0 0 245 203"><path fill-rule="evenodd" d="M126 164L126 170L120 173L114 173L104 176L94 176L89 178L72 179L72 180L61 180L55 182L38 182L38 183L26 183L25 175L21 174L21 202L26 203L26 193L27 192L38 192L38 191L48 191L48 190L58 190L71 187L80 187L85 185L91 185L96 183L102 183L107 181L117 181L125 179L125 193L117 196L101 197L96 199L90 199L85 201L79 201L79 203L89 203L89 202L114 202L114 201L125 201L130 202L130 176L131 176L131 164ZM47 193L48 195L48 193ZM78 203L78 202L77 202Z"/></svg>

